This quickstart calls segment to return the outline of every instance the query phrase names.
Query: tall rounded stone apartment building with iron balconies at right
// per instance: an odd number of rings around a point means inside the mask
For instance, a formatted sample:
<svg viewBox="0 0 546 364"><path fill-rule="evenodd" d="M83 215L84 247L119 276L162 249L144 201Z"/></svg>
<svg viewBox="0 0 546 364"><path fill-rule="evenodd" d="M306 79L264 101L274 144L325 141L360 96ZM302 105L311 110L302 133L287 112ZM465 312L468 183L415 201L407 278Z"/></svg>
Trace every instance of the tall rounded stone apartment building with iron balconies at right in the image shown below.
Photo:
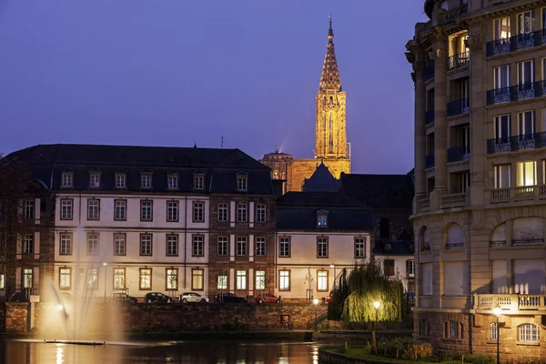
<svg viewBox="0 0 546 364"><path fill-rule="evenodd" d="M546 2L427 0L415 86L415 337L546 356Z"/></svg>

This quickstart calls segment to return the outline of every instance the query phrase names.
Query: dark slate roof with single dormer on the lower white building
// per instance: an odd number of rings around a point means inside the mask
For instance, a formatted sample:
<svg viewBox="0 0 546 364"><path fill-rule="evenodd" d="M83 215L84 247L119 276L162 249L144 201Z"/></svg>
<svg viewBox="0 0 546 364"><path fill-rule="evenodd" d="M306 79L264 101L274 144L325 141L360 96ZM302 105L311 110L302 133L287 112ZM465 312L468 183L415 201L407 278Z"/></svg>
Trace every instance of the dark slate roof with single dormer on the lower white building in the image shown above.
<svg viewBox="0 0 546 364"><path fill-rule="evenodd" d="M371 210L339 192L288 192L278 198L278 230L373 231ZM328 228L317 227L317 212L328 211Z"/></svg>

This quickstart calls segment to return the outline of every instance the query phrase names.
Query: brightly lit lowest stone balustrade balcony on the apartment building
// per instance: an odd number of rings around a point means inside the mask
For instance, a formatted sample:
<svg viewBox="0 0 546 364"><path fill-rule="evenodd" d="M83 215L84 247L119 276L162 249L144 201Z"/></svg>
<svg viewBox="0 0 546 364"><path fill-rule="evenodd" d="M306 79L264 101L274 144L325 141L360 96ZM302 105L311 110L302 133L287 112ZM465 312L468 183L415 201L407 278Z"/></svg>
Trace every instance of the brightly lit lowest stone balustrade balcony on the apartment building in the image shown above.
<svg viewBox="0 0 546 364"><path fill-rule="evenodd" d="M546 311L546 295L474 295L474 309L493 310L499 307L509 313ZM510 312L508 312L510 311Z"/></svg>

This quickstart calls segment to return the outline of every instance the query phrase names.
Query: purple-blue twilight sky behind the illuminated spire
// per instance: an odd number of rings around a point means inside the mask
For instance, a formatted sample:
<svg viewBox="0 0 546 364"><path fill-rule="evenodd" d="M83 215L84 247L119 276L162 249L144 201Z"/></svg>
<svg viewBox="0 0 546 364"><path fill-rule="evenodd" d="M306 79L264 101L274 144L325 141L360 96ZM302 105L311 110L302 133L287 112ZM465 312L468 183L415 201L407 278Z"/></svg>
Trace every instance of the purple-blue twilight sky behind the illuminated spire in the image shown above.
<svg viewBox="0 0 546 364"><path fill-rule="evenodd" d="M45 143L312 157L328 15L354 173L413 167L423 0L0 0L0 153Z"/></svg>

